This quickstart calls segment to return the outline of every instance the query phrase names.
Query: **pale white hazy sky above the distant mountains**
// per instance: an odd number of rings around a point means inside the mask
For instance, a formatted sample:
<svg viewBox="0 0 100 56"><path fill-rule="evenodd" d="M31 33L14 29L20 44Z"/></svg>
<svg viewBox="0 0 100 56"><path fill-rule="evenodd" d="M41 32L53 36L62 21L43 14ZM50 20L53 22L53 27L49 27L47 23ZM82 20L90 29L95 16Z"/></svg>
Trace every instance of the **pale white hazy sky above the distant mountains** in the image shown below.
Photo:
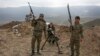
<svg viewBox="0 0 100 56"><path fill-rule="evenodd" d="M0 0L0 7L27 6L27 2L36 7L64 7L67 3L71 6L100 6L100 0Z"/></svg>

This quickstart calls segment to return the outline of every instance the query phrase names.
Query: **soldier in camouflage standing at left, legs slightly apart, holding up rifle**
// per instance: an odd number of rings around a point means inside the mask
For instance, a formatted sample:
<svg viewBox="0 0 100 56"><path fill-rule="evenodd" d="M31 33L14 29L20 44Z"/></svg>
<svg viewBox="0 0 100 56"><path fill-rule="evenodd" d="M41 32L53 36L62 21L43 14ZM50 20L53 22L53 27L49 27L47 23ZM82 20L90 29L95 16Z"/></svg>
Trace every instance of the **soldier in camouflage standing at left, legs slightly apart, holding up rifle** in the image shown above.
<svg viewBox="0 0 100 56"><path fill-rule="evenodd" d="M37 54L40 53L40 43L41 43L41 37L42 37L42 32L44 31L44 34L46 36L46 21L44 20L44 14L40 14L39 18L35 20L33 18L32 24L34 27L33 30L33 37L32 37L32 55L34 55L34 49L35 49L35 42L37 41Z"/></svg>

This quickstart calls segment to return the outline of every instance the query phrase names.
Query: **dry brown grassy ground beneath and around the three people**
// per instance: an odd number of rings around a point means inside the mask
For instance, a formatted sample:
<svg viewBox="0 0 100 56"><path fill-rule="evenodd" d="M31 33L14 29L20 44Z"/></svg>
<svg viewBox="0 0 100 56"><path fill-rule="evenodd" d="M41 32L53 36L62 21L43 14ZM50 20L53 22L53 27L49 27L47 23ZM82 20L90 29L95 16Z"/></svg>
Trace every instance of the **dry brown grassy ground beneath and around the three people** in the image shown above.
<svg viewBox="0 0 100 56"><path fill-rule="evenodd" d="M0 29L0 56L30 56L32 27L30 23L20 23L21 36L17 36L8 28ZM9 25L8 25L9 26ZM59 36L59 45L63 54L57 53L54 45L45 45L41 50L42 55L35 56L69 56L70 55L70 32L68 27L55 25L56 34ZM10 27L12 29L12 27ZM45 39L42 38L42 43ZM84 29L84 40L81 42L80 56L100 56L100 26Z"/></svg>

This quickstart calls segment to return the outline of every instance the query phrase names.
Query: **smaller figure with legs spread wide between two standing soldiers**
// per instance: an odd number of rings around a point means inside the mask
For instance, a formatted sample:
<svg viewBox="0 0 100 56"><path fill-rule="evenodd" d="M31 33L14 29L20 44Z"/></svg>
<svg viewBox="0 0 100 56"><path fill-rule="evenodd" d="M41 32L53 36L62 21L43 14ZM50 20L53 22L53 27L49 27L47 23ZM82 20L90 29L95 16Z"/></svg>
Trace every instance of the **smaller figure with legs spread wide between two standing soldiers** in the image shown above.
<svg viewBox="0 0 100 56"><path fill-rule="evenodd" d="M41 50L43 50L43 47L45 46L46 42L48 41L50 44L56 44L57 48L58 48L58 54L62 54L62 51L60 51L60 47L58 44L58 36L55 35L55 27L53 25L53 23L50 23L48 25L48 38L46 39L46 41L44 42Z"/></svg>

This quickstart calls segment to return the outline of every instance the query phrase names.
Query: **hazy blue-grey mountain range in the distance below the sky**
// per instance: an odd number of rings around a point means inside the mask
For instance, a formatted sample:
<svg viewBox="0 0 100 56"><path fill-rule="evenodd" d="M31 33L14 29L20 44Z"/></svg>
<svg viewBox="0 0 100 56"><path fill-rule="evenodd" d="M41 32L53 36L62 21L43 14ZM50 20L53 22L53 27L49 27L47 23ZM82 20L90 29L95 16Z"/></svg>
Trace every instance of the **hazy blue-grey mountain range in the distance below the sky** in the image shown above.
<svg viewBox="0 0 100 56"><path fill-rule="evenodd" d="M36 17L40 13L44 13L46 21L63 24L68 20L67 7L33 7L33 12ZM100 18L99 6L71 6L71 15L74 18L79 15L82 19L95 19ZM0 8L0 24L9 21L23 21L26 14L29 14L30 9L28 6L22 7L8 7Z"/></svg>

